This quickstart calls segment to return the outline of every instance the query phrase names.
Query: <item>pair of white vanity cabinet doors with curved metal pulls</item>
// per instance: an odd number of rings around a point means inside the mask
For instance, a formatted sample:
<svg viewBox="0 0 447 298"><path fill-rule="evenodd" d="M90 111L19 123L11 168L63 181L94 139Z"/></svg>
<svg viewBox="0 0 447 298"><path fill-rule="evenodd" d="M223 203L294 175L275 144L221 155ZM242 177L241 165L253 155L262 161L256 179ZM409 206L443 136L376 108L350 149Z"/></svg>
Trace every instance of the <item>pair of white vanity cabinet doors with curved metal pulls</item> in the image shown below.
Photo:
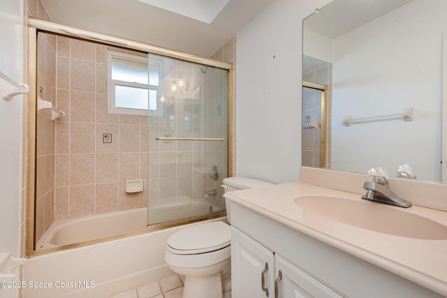
<svg viewBox="0 0 447 298"><path fill-rule="evenodd" d="M342 298L309 274L231 228L232 297Z"/></svg>

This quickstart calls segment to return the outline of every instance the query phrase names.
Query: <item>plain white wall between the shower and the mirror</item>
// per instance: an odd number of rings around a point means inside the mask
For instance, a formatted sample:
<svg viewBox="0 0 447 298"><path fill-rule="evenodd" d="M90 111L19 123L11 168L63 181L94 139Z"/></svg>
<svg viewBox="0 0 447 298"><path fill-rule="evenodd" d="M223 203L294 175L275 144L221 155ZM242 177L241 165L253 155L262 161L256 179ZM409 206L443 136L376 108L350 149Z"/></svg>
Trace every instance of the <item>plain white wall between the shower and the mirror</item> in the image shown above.
<svg viewBox="0 0 447 298"><path fill-rule="evenodd" d="M237 33L237 175L298 181L302 20L329 0L276 0Z"/></svg>

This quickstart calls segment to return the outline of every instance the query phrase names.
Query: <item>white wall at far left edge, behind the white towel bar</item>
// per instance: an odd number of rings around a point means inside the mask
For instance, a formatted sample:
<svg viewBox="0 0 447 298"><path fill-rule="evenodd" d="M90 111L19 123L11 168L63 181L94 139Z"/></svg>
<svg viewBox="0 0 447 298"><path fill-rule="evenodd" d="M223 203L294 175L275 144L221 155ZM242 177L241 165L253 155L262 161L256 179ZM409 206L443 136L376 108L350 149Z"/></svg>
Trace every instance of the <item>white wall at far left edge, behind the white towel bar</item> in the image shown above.
<svg viewBox="0 0 447 298"><path fill-rule="evenodd" d="M22 1L0 0L0 6L0 71L22 82ZM22 98L0 98L0 253L15 257L20 254ZM4 298L17 295L17 290L0 290Z"/></svg>

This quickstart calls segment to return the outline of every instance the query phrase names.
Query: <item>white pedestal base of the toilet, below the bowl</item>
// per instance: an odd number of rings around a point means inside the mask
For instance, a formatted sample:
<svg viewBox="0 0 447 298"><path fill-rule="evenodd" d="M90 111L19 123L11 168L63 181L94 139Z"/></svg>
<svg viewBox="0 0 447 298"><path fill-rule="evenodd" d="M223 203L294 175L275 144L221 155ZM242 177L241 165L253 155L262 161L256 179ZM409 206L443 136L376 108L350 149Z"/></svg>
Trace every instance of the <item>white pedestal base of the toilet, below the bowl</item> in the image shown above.
<svg viewBox="0 0 447 298"><path fill-rule="evenodd" d="M222 298L221 273L185 276L183 298Z"/></svg>

